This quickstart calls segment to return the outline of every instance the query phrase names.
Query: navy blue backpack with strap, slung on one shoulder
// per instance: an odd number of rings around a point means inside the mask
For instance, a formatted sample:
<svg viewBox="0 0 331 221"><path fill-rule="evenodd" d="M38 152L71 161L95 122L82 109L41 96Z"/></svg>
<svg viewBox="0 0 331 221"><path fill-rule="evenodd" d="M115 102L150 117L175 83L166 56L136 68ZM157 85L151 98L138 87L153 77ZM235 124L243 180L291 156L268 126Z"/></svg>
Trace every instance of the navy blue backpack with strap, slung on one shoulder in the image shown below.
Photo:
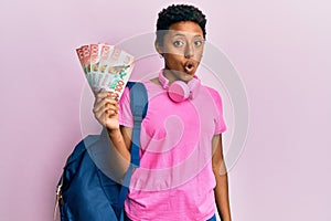
<svg viewBox="0 0 331 221"><path fill-rule="evenodd" d="M106 176L94 157L109 148L106 129L100 135L88 135L67 158L56 191L56 208L61 221L124 221L124 202L129 191L134 168L138 168L141 122L148 108L147 91L141 83L128 82L130 108L135 120L130 166L122 185Z"/></svg>

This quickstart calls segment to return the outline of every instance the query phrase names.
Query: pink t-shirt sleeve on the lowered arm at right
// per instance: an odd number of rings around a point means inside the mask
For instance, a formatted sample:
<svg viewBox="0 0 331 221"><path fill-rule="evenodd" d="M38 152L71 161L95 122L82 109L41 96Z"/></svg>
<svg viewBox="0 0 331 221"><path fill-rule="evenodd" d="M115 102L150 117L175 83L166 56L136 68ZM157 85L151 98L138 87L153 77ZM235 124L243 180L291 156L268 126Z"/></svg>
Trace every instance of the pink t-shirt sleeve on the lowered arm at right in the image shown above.
<svg viewBox="0 0 331 221"><path fill-rule="evenodd" d="M224 120L224 116L223 116L223 103L222 103L222 98L218 94L217 91L210 88L210 94L213 97L215 107L216 107L216 116L214 118L214 124L215 124L215 135L217 134L222 134L226 130L226 125L225 125L225 120Z"/></svg>

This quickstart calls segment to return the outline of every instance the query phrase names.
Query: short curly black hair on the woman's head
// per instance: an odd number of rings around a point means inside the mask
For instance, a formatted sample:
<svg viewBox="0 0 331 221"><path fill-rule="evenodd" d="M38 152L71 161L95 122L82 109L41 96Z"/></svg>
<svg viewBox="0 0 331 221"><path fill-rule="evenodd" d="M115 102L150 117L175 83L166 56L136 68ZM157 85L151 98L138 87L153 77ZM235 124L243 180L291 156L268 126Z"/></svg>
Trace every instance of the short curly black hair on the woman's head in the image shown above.
<svg viewBox="0 0 331 221"><path fill-rule="evenodd" d="M200 9L188 4L172 4L159 12L157 22L157 41L163 42L164 30L169 30L171 24L181 21L193 21L197 23L205 39L206 18Z"/></svg>

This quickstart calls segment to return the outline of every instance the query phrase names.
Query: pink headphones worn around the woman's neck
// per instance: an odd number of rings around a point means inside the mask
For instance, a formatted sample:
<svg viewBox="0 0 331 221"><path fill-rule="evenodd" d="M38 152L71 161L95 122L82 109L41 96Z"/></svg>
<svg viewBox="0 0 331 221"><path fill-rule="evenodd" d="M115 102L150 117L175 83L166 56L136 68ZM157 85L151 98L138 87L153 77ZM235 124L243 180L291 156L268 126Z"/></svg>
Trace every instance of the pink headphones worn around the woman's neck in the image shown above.
<svg viewBox="0 0 331 221"><path fill-rule="evenodd" d="M163 75L163 70L159 74L159 81L162 87L168 91L169 97L175 103L183 102L188 98L193 99L196 97L201 86L201 82L196 76L188 83L175 81L169 85L169 80Z"/></svg>

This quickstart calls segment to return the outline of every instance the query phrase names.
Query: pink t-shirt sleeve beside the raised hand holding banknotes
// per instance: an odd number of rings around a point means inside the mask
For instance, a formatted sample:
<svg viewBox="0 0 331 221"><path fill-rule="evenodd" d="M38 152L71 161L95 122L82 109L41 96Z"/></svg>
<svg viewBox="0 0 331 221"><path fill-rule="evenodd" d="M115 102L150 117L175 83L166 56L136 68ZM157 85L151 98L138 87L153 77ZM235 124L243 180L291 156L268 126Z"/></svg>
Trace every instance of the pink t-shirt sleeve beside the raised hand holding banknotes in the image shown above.
<svg viewBox="0 0 331 221"><path fill-rule="evenodd" d="M134 128L134 117L130 108L130 90L126 87L119 99L119 125Z"/></svg>

